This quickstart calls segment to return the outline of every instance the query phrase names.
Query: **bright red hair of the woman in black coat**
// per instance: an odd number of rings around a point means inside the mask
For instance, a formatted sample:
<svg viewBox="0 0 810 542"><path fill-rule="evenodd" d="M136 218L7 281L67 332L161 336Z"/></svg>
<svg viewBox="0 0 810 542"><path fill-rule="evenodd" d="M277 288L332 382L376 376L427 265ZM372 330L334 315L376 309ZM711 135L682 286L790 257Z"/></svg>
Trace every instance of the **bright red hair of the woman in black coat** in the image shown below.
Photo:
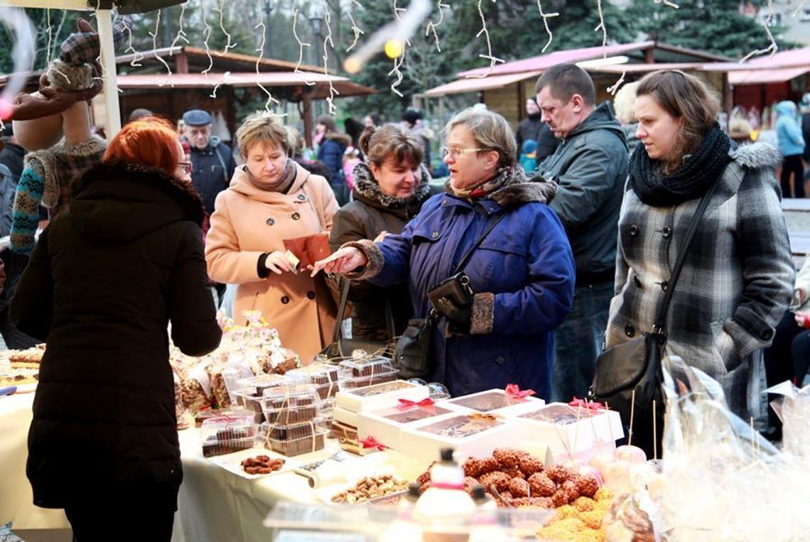
<svg viewBox="0 0 810 542"><path fill-rule="evenodd" d="M174 175L177 163L177 131L161 117L142 117L130 122L109 142L102 161L126 160L162 169Z"/></svg>

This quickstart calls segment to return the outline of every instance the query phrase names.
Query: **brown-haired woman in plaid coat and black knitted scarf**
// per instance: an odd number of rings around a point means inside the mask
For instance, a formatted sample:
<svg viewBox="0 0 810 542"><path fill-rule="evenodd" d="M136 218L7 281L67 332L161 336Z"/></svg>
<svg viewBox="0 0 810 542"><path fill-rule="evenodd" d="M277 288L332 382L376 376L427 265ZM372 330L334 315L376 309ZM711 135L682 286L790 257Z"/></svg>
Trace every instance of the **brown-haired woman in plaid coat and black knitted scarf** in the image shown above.
<svg viewBox="0 0 810 542"><path fill-rule="evenodd" d="M778 151L731 143L714 120L717 98L680 71L642 79L635 109L642 146L621 207L606 346L651 331L691 218L718 183L672 295L665 353L718 380L731 411L748 420L747 397L759 384L749 375L759 373L795 276Z"/></svg>

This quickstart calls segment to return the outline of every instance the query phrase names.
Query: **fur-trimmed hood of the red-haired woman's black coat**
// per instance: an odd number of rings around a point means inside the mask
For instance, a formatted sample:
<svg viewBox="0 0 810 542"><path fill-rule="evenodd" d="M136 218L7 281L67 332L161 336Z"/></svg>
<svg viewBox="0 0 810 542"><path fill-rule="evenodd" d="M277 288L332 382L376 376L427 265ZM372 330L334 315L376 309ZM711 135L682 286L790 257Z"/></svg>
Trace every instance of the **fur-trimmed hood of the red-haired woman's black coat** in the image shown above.
<svg viewBox="0 0 810 542"><path fill-rule="evenodd" d="M82 177L70 220L89 237L132 241L180 220L203 224L194 186L145 164L102 162Z"/></svg>

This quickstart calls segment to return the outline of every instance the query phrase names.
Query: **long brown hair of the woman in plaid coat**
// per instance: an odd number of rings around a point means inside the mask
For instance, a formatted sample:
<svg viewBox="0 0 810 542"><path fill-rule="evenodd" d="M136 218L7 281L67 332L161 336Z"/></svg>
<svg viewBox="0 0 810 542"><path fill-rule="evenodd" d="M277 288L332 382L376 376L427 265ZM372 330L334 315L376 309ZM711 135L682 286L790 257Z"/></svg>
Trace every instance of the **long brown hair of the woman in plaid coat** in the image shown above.
<svg viewBox="0 0 810 542"><path fill-rule="evenodd" d="M684 156L700 146L706 130L720 113L717 94L701 79L680 70L659 70L645 75L638 82L636 96L652 96L661 109L681 121L675 148L670 153L672 159L663 164L664 174L678 169Z"/></svg>

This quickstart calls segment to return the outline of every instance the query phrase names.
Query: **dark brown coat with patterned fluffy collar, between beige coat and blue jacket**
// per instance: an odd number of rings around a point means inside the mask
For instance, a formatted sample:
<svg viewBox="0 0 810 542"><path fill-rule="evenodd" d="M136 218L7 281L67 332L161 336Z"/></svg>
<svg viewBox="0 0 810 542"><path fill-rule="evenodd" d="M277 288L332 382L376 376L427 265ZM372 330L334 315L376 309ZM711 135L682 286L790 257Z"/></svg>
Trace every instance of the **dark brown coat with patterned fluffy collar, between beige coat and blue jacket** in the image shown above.
<svg viewBox="0 0 810 542"><path fill-rule="evenodd" d="M407 199L382 194L367 164L357 164L353 173L354 201L340 207L335 213L329 237L332 250L348 241L373 240L383 231L402 233L405 224L420 211L422 203L441 191L439 187L433 189L430 186L430 174L424 166L422 182L416 194ZM381 288L363 280L353 280L349 290L352 336L377 340L388 338L385 297L390 303L396 334L400 335L404 331L408 318L413 315L407 284Z"/></svg>

